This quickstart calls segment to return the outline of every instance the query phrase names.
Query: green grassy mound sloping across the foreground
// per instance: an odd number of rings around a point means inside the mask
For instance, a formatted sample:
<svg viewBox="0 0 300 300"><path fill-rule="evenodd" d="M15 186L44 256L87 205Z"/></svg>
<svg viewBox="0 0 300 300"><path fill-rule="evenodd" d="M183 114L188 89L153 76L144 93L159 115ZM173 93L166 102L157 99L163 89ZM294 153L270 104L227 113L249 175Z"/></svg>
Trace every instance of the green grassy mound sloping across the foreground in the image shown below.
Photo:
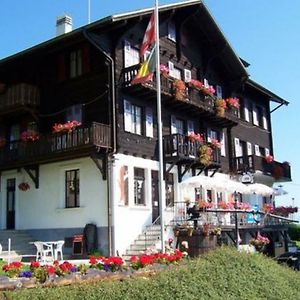
<svg viewBox="0 0 300 300"><path fill-rule="evenodd" d="M0 299L300 299L300 272L219 248L177 269L124 281L0 293Z"/></svg>

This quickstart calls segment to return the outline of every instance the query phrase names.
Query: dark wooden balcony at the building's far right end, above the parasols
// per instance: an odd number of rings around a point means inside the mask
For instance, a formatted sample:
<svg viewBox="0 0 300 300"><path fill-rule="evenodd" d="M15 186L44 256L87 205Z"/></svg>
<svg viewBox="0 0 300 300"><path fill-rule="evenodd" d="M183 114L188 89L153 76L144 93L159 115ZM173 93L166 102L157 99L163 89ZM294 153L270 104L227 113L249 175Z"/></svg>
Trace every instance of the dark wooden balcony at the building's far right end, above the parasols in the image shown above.
<svg viewBox="0 0 300 300"><path fill-rule="evenodd" d="M256 155L234 157L232 159L232 171L244 173L261 171L264 175L273 176L277 182L291 181L291 167L288 163L278 161L266 162L264 157Z"/></svg>

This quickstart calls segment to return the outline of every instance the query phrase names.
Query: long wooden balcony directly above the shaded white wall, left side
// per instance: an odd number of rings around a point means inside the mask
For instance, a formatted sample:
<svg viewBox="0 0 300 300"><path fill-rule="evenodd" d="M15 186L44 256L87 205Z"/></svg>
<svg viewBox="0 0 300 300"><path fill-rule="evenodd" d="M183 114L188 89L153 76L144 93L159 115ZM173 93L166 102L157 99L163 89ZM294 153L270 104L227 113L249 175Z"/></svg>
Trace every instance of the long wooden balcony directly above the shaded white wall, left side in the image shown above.
<svg viewBox="0 0 300 300"><path fill-rule="evenodd" d="M0 148L0 170L18 168L108 151L110 126L92 123L72 132L41 136L39 140L6 143Z"/></svg>

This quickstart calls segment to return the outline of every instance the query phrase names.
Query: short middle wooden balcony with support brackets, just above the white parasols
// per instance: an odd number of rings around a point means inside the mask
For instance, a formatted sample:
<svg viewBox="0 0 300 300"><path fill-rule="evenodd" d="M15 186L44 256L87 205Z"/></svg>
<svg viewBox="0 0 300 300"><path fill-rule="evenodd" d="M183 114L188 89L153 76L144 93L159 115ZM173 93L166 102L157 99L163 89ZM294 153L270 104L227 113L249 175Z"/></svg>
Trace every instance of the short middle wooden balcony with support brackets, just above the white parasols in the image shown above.
<svg viewBox="0 0 300 300"><path fill-rule="evenodd" d="M178 170L179 181L188 169L217 170L221 166L221 151L214 149L209 165L200 162L199 149L204 142L190 141L182 134L171 134L163 137L164 162L178 167L185 167L185 171Z"/></svg>

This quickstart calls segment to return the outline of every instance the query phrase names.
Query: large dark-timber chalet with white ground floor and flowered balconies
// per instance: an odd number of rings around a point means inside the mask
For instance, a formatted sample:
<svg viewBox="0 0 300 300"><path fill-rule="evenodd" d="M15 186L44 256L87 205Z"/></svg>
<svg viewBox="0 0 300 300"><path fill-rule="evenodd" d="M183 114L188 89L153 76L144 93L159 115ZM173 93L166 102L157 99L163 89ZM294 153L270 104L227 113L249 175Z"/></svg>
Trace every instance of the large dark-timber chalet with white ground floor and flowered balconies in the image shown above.
<svg viewBox="0 0 300 300"><path fill-rule="evenodd" d="M1 230L57 240L93 223L103 254L125 254L160 224L156 83L131 83L151 12L110 16L0 61ZM266 159L270 102L288 102L249 79L202 1L161 6L159 36L171 236L186 213L178 203L229 201L240 180L291 180L288 163ZM224 109L221 99L236 98ZM191 178L199 188L186 189ZM272 201L251 193L238 196Z"/></svg>

